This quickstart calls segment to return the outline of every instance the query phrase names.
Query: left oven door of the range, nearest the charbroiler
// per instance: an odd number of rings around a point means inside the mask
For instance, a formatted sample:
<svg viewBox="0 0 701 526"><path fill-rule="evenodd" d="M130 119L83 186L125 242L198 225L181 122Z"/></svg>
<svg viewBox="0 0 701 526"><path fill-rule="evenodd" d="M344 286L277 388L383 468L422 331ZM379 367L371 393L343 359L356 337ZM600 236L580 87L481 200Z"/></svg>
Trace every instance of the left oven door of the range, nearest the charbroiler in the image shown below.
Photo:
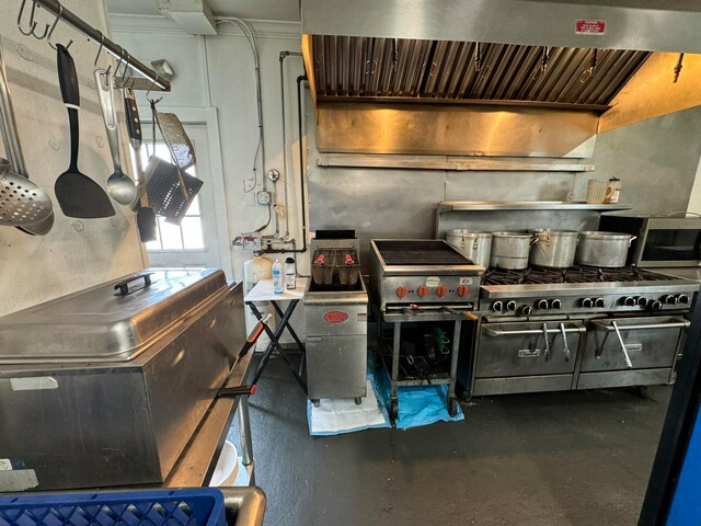
<svg viewBox="0 0 701 526"><path fill-rule="evenodd" d="M483 323L473 395L572 388L581 321Z"/></svg>

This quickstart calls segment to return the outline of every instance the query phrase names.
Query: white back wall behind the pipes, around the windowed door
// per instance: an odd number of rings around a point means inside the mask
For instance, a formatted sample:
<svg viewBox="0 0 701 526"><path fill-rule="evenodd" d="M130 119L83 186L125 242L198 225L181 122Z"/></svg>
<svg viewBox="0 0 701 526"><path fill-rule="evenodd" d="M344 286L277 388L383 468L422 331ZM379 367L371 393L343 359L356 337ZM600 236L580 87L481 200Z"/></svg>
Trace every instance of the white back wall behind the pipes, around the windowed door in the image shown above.
<svg viewBox="0 0 701 526"><path fill-rule="evenodd" d="M172 92L163 94L161 105L174 108L215 107L219 118L220 148L223 165L223 183L229 233L233 238L241 232L256 229L267 220L267 208L254 204L255 192L243 192L243 180L252 178L254 152L257 145L257 113L255 104L255 77L253 59L240 30L231 24L219 26L217 36L185 35L168 20L160 16L111 18L114 38L128 47L145 62L165 58L173 66L176 77ZM279 52L300 52L299 24L252 21L260 53L261 85L263 94L263 127L265 133L265 170L257 174L257 188L262 188L265 171L277 169L285 179L281 155L281 115ZM303 70L301 57L285 60L289 188L290 238L301 242L298 192L297 110L295 79ZM153 94L152 94L153 95ZM141 94L140 104L146 104ZM160 95L159 95L160 96ZM141 112L146 112L146 106ZM278 183L281 186L283 180ZM250 185L250 182L246 184ZM272 183L267 183L272 190ZM283 204L281 191L278 193ZM281 206L278 207L281 211ZM281 221L281 220L280 220ZM273 233L274 220L264 233ZM283 228L284 230L284 228ZM230 247L233 277L243 278L243 262L250 251ZM284 258L284 255L280 255ZM298 258L300 270L308 256ZM307 265L308 268L308 265Z"/></svg>

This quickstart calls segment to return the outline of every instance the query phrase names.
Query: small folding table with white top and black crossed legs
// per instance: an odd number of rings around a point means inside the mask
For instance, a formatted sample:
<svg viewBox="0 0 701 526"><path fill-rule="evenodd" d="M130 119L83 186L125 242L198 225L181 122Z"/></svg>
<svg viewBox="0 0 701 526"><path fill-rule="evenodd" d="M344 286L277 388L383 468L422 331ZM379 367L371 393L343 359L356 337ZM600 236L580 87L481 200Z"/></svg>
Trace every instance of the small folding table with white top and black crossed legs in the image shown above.
<svg viewBox="0 0 701 526"><path fill-rule="evenodd" d="M297 287L291 290L285 289L283 294L275 294L275 291L273 290L273 279L261 279L255 285L255 287L253 287L251 291L246 294L244 298L245 305L249 306L249 308L251 309L251 311L257 318L258 321L263 319L263 315L261 313L258 308L255 306L255 302L269 301L273 305L275 312L277 312L277 316L280 317L280 321L275 332L273 332L273 330L269 327L267 327L267 324L263 325L265 332L271 339L271 343L265 350L265 352L263 353L263 358L261 359L261 364L258 365L258 368L256 369L251 384L252 385L257 384L258 378L261 378L261 375L263 374L263 370L267 365L267 362L271 359L271 356L273 355L273 352L277 350L277 353L283 357L285 363L287 363L287 366L292 371L292 375L295 375L295 379L304 391L304 395L307 395L307 382L304 381L304 377L303 377L307 348L304 347L304 344L301 342L301 340L292 329L291 324L289 323L289 320L292 316L292 312L295 311L295 308L297 307L299 301L304 298L304 289L307 288L307 278L303 278L303 277L297 278L296 285ZM284 312L280 306L278 305L280 301L289 301L289 305L287 306ZM297 347L302 353L302 359L299 365L299 369L295 367L289 356L287 355L288 352L285 351L285 348L283 348L283 345L279 342L279 339L283 335L283 332L285 332L285 329L287 329L289 334L292 336L292 340L295 340Z"/></svg>

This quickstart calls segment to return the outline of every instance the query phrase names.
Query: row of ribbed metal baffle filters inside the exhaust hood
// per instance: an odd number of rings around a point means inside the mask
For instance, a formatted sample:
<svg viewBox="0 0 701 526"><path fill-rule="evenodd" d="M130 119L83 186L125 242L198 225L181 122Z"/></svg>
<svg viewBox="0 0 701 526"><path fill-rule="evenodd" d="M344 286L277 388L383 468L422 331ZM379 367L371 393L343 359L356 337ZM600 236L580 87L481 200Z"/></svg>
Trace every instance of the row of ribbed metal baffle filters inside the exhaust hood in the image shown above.
<svg viewBox="0 0 701 526"><path fill-rule="evenodd" d="M313 37L319 101L567 104L605 111L647 52Z"/></svg>

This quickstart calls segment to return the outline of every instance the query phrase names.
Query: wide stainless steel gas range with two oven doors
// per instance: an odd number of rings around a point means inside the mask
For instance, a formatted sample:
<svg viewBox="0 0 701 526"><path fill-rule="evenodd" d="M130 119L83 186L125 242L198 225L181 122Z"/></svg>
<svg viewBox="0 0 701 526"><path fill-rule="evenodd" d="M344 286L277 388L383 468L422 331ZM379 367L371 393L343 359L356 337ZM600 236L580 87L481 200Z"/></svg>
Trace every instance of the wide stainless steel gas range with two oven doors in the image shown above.
<svg viewBox="0 0 701 526"><path fill-rule="evenodd" d="M671 384L698 288L634 266L490 268L460 381L473 396Z"/></svg>

